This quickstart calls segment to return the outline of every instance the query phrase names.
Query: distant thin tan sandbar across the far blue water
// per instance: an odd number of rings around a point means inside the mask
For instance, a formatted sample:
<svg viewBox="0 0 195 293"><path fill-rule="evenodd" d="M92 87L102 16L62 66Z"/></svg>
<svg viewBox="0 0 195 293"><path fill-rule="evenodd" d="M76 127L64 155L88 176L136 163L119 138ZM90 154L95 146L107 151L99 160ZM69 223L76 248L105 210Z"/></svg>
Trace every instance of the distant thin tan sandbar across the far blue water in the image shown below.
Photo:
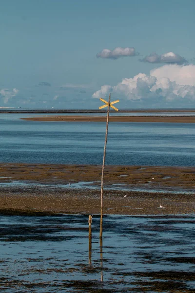
<svg viewBox="0 0 195 293"><path fill-rule="evenodd" d="M106 116L44 116L20 118L29 121L106 122ZM195 123L195 116L110 116L109 122Z"/></svg>

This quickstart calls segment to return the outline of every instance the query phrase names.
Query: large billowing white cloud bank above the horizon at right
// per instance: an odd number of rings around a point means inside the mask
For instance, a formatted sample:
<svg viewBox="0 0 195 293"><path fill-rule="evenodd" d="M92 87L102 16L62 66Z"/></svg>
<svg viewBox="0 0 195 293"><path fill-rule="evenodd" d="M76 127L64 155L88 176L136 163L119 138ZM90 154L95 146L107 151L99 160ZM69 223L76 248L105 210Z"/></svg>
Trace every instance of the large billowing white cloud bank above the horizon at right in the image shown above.
<svg viewBox="0 0 195 293"><path fill-rule="evenodd" d="M121 83L103 85L93 98L104 98L112 92L118 98L154 104L195 102L195 65L163 65L149 75L139 73Z"/></svg>

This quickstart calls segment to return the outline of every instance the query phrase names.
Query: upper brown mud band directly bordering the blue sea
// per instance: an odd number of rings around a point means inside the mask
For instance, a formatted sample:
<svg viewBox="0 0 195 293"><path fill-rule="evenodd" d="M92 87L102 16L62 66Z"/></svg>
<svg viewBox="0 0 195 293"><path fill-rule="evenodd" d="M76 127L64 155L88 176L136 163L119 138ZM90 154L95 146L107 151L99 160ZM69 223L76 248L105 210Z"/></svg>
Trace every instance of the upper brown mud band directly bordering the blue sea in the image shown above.
<svg viewBox="0 0 195 293"><path fill-rule="evenodd" d="M94 182L100 186L100 165L46 165L0 163L0 182L26 181L44 184ZM124 188L173 188L193 190L195 167L105 166L104 186ZM91 184L93 185L93 184ZM71 187L71 185L70 185Z"/></svg>

